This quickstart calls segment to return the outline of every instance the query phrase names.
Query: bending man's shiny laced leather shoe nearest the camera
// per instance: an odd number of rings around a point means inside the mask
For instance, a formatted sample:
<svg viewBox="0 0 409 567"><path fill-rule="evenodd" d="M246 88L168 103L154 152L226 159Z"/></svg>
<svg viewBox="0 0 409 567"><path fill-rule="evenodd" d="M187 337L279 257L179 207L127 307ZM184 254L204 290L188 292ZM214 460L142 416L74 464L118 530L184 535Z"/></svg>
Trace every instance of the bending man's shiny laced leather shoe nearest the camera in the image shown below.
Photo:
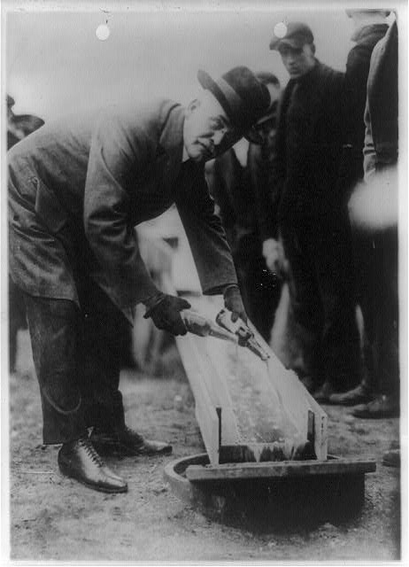
<svg viewBox="0 0 409 567"><path fill-rule="evenodd" d="M58 467L67 477L102 493L126 493L127 483L109 469L89 439L65 443L58 451Z"/></svg>

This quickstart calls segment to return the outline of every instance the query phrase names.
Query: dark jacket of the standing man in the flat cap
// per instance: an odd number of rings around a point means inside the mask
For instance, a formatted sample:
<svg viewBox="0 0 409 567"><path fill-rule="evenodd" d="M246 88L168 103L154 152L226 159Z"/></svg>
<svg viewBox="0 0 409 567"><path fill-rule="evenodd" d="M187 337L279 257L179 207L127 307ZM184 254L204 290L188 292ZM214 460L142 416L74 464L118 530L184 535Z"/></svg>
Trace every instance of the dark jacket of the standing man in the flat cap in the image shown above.
<svg viewBox="0 0 409 567"><path fill-rule="evenodd" d="M317 61L288 82L279 108L270 183L278 223L338 210L342 147L343 74ZM274 219L272 224L277 226Z"/></svg>

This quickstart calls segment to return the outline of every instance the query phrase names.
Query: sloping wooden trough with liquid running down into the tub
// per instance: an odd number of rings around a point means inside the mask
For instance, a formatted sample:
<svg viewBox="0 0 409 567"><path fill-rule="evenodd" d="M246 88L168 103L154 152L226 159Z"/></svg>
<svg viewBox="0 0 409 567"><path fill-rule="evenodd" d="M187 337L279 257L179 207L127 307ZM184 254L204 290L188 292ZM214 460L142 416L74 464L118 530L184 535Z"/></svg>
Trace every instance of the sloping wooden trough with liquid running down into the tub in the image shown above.
<svg viewBox="0 0 409 567"><path fill-rule="evenodd" d="M223 307L219 297L188 299L213 321ZM188 333L176 339L211 464L292 460L300 454L325 461L326 413L254 332L268 361L217 338Z"/></svg>

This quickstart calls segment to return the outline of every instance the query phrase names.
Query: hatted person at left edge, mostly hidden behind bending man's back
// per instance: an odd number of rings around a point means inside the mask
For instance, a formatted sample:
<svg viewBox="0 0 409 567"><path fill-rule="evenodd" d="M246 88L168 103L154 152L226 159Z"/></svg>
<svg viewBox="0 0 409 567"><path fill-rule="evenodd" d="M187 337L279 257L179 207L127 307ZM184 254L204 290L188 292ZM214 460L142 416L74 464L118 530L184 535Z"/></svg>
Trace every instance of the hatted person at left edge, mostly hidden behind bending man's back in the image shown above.
<svg viewBox="0 0 409 567"><path fill-rule="evenodd" d="M14 114L12 107L14 98L7 95L7 150L19 140L40 128L44 120L33 114ZM19 329L27 329L26 307L24 297L17 285L9 277L9 370L16 372L17 333Z"/></svg>

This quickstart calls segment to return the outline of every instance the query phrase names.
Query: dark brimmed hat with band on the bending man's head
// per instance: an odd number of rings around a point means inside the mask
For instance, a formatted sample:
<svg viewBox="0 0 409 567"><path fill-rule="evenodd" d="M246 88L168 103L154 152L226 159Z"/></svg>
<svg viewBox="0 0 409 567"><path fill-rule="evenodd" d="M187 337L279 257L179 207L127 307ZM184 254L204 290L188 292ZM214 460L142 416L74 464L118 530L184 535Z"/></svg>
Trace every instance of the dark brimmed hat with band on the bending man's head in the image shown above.
<svg viewBox="0 0 409 567"><path fill-rule="evenodd" d="M217 81L199 69L197 80L219 101L233 128L250 142L260 144L260 136L251 127L266 114L270 106L270 93L266 85L246 66L230 69Z"/></svg>

